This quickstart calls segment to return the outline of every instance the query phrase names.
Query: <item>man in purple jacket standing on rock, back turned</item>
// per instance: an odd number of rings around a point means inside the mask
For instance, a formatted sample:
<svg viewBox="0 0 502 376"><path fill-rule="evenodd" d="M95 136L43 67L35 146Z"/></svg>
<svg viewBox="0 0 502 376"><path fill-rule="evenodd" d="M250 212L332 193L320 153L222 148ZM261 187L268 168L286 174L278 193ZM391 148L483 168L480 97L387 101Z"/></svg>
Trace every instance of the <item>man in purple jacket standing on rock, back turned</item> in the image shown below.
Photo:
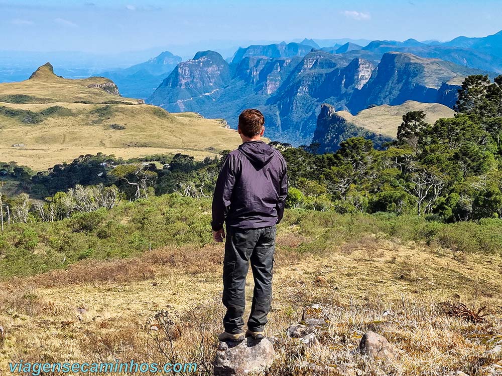
<svg viewBox="0 0 502 376"><path fill-rule="evenodd" d="M272 299L272 267L276 224L283 217L288 194L286 161L279 151L261 141L263 114L247 109L239 115L242 144L226 157L214 190L211 227L216 242L223 242L223 318L221 341L244 339L244 288L249 261L255 289L245 336L264 338Z"/></svg>

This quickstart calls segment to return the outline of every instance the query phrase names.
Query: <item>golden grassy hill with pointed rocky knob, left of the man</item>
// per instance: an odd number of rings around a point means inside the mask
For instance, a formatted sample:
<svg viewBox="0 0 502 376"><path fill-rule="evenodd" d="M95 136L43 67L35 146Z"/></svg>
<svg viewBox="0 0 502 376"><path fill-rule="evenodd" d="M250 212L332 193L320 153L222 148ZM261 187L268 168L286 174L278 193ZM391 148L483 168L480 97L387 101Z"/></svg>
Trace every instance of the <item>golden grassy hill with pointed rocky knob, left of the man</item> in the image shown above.
<svg viewBox="0 0 502 376"><path fill-rule="evenodd" d="M0 84L1 159L44 169L81 154L130 158L184 151L203 158L239 144L219 120L170 114L115 90L102 77L58 77L47 64L29 80Z"/></svg>

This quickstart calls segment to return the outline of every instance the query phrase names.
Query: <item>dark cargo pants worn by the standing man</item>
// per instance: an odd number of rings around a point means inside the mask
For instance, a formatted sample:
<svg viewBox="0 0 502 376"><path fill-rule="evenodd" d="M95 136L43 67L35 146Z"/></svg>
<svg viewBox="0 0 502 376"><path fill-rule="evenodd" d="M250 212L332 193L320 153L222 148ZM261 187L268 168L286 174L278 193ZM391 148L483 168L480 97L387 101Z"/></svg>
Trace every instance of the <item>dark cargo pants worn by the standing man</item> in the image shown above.
<svg viewBox="0 0 502 376"><path fill-rule="evenodd" d="M242 332L249 262L253 270L255 290L247 321L252 331L263 331L272 300L272 268L276 227L236 229L227 226L223 260L223 304L227 308L223 325L228 333Z"/></svg>

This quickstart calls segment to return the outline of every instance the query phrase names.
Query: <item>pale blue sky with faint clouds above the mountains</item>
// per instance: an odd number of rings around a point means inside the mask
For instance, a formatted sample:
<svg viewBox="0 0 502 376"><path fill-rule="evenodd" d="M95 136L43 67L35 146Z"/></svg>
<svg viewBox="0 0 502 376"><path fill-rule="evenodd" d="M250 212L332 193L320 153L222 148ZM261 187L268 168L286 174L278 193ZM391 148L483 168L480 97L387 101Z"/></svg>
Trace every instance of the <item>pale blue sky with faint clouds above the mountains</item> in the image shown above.
<svg viewBox="0 0 502 376"><path fill-rule="evenodd" d="M498 32L500 14L500 0L0 0L0 50L116 53L304 37L450 40Z"/></svg>

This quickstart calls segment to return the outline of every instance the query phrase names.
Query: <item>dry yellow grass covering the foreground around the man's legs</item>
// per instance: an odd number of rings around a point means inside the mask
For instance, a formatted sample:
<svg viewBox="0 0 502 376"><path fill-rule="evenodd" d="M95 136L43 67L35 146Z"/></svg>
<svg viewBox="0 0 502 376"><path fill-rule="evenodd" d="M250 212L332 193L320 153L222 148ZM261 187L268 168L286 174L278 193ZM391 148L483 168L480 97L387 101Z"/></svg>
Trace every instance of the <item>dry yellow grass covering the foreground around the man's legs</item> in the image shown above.
<svg viewBox="0 0 502 376"><path fill-rule="evenodd" d="M371 236L326 254L299 254L296 247L308 241L294 229L279 234L267 327L277 337L271 374L320 374L298 369L295 356L333 372L349 364L366 375L444 375L450 370L484 375L483 367L500 360L482 356L502 339L500 256L459 259L449 250ZM6 339L0 369L20 358L166 362L163 350L171 354L170 343L162 330L150 328L160 327L154 316L168 311L175 321L170 330L176 360L197 361L201 370L210 371L223 314L222 253L221 245L163 248L137 259L86 262L68 271L4 281L0 325ZM249 282L248 304L250 276ZM477 324L450 317L438 309L443 301L487 306L491 315ZM288 339L285 329L313 302L330 307L330 328L319 335L319 345L305 348ZM78 313L77 307L86 312ZM350 353L368 329L396 346L396 360L367 361Z"/></svg>

